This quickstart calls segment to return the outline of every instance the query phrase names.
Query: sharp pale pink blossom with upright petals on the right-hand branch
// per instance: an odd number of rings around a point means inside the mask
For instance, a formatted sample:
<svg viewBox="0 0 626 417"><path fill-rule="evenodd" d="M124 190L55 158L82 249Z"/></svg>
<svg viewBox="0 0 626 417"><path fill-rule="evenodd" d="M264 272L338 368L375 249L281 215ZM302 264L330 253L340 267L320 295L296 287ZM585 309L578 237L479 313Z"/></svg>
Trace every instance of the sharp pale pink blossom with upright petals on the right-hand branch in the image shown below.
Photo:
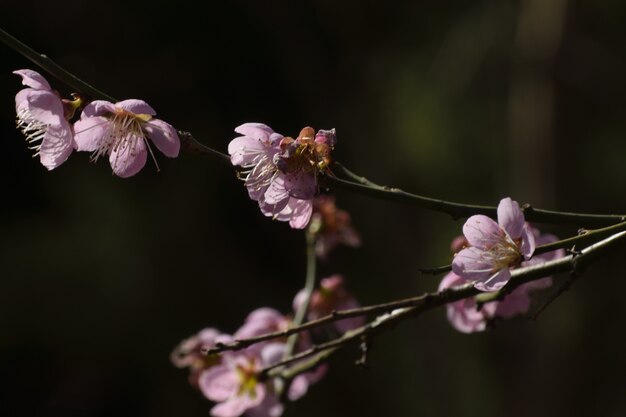
<svg viewBox="0 0 626 417"><path fill-rule="evenodd" d="M511 279L510 269L530 259L535 238L524 222L517 202L504 198L498 205L498 223L487 216L470 217L463 225L470 247L452 262L452 271L481 291L495 291Z"/></svg>

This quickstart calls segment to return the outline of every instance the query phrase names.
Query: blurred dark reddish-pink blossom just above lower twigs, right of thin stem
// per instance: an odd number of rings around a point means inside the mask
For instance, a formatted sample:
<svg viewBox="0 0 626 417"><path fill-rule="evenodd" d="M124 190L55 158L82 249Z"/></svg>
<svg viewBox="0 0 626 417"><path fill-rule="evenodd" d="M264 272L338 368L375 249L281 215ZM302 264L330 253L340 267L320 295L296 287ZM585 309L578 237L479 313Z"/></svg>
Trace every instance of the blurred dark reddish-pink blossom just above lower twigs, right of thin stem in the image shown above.
<svg viewBox="0 0 626 417"><path fill-rule="evenodd" d="M305 296L304 290L296 294L293 300L293 309L295 311L304 302ZM309 320L315 320L332 313L334 310L350 310L358 307L358 301L346 291L343 277L341 275L332 275L320 280L319 289L311 294L307 317ZM348 330L362 326L364 323L364 317L351 317L336 321L333 324L339 333L345 333Z"/></svg>

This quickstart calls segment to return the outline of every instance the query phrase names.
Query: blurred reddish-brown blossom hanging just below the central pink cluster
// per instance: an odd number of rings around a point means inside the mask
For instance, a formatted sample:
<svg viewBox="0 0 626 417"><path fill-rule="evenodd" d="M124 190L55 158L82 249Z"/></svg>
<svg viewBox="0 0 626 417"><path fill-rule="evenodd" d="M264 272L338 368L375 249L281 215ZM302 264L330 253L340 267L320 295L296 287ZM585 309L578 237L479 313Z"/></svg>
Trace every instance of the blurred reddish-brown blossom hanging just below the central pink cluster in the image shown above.
<svg viewBox="0 0 626 417"><path fill-rule="evenodd" d="M313 215L309 230L315 234L315 253L321 259L339 244L356 247L361 239L350 224L350 215L339 210L335 198L320 195L313 200Z"/></svg>

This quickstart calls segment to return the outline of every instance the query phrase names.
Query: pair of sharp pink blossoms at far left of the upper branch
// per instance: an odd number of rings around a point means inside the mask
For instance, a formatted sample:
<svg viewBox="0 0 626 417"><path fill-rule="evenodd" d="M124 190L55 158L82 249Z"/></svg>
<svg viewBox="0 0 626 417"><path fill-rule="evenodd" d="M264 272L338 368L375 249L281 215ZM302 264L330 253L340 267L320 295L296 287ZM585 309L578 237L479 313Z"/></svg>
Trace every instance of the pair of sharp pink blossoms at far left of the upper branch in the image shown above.
<svg viewBox="0 0 626 417"><path fill-rule="evenodd" d="M107 156L113 173L126 178L144 167L148 153L156 164L150 142L165 156L178 156L176 129L154 118L156 112L145 101L93 101L84 106L80 119L72 125L69 121L74 112L84 104L80 97L61 99L36 71L13 73L21 76L27 87L15 96L17 126L47 169L61 165L73 150L86 151L91 152L93 161Z"/></svg>

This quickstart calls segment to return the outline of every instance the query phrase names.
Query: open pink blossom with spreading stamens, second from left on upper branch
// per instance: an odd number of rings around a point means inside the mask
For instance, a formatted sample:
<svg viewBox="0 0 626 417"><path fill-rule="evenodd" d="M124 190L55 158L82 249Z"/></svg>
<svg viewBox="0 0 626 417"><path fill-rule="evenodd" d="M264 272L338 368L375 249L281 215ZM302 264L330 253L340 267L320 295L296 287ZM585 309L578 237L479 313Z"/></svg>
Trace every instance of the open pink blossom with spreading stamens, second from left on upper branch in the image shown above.
<svg viewBox="0 0 626 417"><path fill-rule="evenodd" d="M142 100L115 104L93 101L74 124L77 150L92 152L93 161L108 155L113 172L122 178L138 173L146 164L148 152L156 164L148 139L165 156L175 158L180 151L176 129L155 119L155 115L154 109Z"/></svg>

